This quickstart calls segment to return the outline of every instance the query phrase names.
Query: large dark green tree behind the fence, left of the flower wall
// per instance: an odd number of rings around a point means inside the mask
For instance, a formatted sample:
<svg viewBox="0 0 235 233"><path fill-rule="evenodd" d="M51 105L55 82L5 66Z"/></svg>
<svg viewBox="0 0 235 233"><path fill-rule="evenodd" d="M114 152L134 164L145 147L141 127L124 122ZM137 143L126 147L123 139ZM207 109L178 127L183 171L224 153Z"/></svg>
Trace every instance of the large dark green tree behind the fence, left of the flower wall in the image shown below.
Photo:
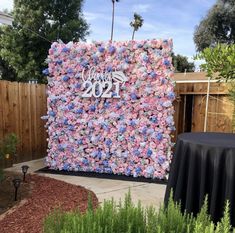
<svg viewBox="0 0 235 233"><path fill-rule="evenodd" d="M85 39L83 0L15 0L13 26L1 26L0 56L14 69L17 81L45 82L42 70L52 41Z"/></svg>

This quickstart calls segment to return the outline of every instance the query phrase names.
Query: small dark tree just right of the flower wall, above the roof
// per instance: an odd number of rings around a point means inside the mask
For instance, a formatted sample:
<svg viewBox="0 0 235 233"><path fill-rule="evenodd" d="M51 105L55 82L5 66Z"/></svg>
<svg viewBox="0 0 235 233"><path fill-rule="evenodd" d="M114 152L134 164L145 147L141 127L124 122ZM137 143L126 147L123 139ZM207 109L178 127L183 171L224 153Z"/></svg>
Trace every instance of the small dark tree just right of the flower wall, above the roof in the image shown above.
<svg viewBox="0 0 235 233"><path fill-rule="evenodd" d="M195 65L193 62L189 62L188 58L182 55L172 54L173 65L176 72L194 72Z"/></svg>

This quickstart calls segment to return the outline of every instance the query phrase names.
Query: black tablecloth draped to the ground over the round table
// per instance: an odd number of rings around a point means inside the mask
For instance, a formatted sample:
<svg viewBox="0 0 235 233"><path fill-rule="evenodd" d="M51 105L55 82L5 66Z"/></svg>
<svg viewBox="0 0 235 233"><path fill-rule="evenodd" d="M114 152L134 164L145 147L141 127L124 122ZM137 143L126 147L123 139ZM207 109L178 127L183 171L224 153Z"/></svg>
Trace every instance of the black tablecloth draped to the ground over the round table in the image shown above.
<svg viewBox="0 0 235 233"><path fill-rule="evenodd" d="M165 194L170 191L183 210L197 214L208 195L208 211L216 222L230 201L235 226L235 134L184 133L178 136Z"/></svg>

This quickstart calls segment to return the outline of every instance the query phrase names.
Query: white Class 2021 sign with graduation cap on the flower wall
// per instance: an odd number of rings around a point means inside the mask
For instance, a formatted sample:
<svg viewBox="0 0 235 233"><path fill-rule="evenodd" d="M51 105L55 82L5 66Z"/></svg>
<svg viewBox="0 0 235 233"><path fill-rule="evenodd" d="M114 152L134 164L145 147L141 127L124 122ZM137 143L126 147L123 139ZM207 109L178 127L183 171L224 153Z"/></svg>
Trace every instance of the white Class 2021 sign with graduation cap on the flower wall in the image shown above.
<svg viewBox="0 0 235 233"><path fill-rule="evenodd" d="M95 67L91 67L85 75L82 71L83 98L120 98L120 85L124 85L127 77L122 71L96 72Z"/></svg>

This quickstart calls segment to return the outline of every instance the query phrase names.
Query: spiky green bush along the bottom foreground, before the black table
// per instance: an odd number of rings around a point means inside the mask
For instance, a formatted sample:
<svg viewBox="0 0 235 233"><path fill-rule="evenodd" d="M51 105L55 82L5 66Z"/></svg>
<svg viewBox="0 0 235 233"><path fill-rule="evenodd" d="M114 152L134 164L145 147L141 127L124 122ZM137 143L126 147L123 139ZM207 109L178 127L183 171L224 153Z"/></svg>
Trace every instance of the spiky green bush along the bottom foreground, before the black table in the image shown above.
<svg viewBox="0 0 235 233"><path fill-rule="evenodd" d="M52 212L44 221L44 233L229 233L232 231L229 218L229 204L225 206L224 217L214 224L207 213L207 199L201 212L193 217L182 213L180 205L172 196L167 207L159 211L144 209L140 202L134 206L130 193L124 203L104 201L103 206L93 210L91 201L85 214L79 211Z"/></svg>

